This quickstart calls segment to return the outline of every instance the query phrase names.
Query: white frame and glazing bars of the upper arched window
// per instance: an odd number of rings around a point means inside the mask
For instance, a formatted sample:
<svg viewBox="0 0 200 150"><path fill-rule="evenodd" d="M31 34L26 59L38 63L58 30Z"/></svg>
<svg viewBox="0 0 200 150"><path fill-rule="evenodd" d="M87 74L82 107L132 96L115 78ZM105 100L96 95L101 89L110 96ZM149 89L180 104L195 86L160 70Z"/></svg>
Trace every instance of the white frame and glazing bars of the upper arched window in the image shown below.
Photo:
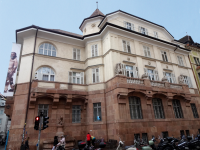
<svg viewBox="0 0 200 150"><path fill-rule="evenodd" d="M48 48L47 49L45 48L45 44L48 44L48 46L47 46ZM51 45L51 49L49 49L49 45ZM43 46L43 47L41 48L41 46ZM42 53L41 53L41 49L42 49ZM47 51L47 54L45 54L45 50ZM48 55L49 51L51 51L51 55ZM53 52L55 52L55 56L53 56ZM53 44L51 44L51 43L42 43L42 44L40 44L40 46L38 48L38 54L56 57L57 50L56 50L56 47Z"/></svg>

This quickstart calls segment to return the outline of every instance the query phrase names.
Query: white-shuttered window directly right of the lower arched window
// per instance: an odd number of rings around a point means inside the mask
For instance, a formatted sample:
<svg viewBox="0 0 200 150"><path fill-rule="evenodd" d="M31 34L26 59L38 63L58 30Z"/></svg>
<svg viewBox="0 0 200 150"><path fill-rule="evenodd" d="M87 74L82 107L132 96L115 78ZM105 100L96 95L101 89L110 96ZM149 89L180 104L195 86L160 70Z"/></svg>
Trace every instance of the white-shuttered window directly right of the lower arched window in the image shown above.
<svg viewBox="0 0 200 150"><path fill-rule="evenodd" d="M84 72L69 72L69 83L84 84Z"/></svg>

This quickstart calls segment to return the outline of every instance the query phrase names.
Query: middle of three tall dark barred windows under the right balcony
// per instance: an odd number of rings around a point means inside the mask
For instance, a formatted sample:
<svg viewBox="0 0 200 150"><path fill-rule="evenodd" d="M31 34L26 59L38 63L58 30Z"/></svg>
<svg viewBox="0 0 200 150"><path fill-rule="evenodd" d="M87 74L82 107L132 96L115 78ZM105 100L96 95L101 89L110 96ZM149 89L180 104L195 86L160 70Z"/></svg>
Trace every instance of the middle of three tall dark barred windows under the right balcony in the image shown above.
<svg viewBox="0 0 200 150"><path fill-rule="evenodd" d="M153 109L156 119L164 119L164 111L162 106L162 100L158 98L153 99Z"/></svg>

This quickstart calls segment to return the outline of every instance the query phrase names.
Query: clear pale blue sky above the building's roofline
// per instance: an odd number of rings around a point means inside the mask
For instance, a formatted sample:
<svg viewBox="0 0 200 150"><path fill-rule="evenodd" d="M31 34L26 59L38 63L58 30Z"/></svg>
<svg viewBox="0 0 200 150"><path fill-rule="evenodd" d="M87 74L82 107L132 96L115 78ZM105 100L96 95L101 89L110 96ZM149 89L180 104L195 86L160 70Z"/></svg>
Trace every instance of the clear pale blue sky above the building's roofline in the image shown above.
<svg viewBox="0 0 200 150"><path fill-rule="evenodd" d="M82 34L79 26L97 0L0 0L0 92L3 93L15 31L30 25ZM200 0L98 0L108 14L122 10L164 26L176 40L186 32L200 43Z"/></svg>

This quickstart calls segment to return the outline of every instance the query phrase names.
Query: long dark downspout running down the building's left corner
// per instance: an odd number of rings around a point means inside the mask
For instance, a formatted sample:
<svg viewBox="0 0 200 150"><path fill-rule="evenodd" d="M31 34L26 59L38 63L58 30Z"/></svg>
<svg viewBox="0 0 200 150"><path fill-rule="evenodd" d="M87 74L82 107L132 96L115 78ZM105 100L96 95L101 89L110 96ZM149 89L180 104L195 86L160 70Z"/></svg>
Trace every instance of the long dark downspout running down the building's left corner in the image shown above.
<svg viewBox="0 0 200 150"><path fill-rule="evenodd" d="M27 102L27 106L26 106L26 116L25 116L24 130L23 130L23 136L22 136L22 143L24 141L24 133L25 133L25 127L26 127L26 122L27 122L27 116L28 116L28 107L29 107L29 102L30 102L32 75L33 75L33 64L34 64L34 58L35 58L35 47L36 47L37 34L38 34L38 27L37 27L37 30L36 30L36 33L35 33L35 43L34 43L33 59L32 59L32 66L31 66L31 75L30 75L30 81L29 81L28 102Z"/></svg>

